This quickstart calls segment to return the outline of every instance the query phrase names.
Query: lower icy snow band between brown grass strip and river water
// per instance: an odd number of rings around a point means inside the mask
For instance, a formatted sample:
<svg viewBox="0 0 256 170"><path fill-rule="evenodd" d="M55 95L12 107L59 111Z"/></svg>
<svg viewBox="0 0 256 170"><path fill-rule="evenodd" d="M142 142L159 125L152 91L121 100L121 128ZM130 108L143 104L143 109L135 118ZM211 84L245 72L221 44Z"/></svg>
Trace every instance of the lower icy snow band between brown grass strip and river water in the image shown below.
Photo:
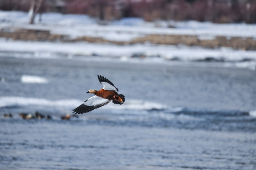
<svg viewBox="0 0 256 170"><path fill-rule="evenodd" d="M115 45L88 42L24 42L0 40L0 57L31 59L86 59L165 63L192 61L226 63L224 67L256 69L256 51L230 48L204 49L174 45Z"/></svg>

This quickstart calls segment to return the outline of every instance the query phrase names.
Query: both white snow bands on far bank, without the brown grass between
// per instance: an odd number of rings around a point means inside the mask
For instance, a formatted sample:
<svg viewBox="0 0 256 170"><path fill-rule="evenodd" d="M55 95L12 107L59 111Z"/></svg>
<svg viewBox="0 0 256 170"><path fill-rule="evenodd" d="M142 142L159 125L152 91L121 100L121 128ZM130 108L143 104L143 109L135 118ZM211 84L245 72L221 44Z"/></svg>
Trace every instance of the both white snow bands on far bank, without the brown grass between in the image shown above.
<svg viewBox="0 0 256 170"><path fill-rule="evenodd" d="M72 38L80 36L102 37L115 41L130 41L146 34L182 34L197 35L201 39L215 36L241 36L256 38L256 24L213 24L210 22L145 22L140 18L124 18L109 22L108 25L97 24L97 19L87 15L45 13L42 22L36 18L35 25L28 24L28 14L18 11L0 11L0 29L29 28L50 30L52 34L66 34ZM174 28L168 28L168 25ZM64 54L72 59L74 56L101 56L131 61L131 56L142 54L147 61L157 62L170 59L197 61L216 59L229 62L227 66L256 69L256 51L233 50L231 48L204 49L202 47L154 45L150 43L133 45L115 45L110 43L88 42L23 42L0 39L0 56L14 56L15 52L28 52L18 57L58 58ZM8 53L11 53L10 55Z"/></svg>

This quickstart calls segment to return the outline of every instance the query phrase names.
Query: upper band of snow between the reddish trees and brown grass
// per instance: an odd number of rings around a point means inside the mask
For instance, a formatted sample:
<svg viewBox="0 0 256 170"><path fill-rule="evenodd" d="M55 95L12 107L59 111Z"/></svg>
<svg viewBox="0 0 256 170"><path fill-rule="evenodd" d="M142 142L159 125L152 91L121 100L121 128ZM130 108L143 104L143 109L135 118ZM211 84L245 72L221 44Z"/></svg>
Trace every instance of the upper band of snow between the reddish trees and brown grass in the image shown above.
<svg viewBox="0 0 256 170"><path fill-rule="evenodd" d="M145 34L199 35L202 39L214 36L241 36L256 38L256 24L213 24L197 21L155 21L145 22L140 18L124 18L98 25L97 19L87 15L44 13L41 23L36 17L36 25L28 24L28 14L17 11L0 11L0 28L9 26L31 29L46 29L55 34L68 34L71 37L93 35L109 40L126 41ZM175 28L168 28L168 26Z"/></svg>

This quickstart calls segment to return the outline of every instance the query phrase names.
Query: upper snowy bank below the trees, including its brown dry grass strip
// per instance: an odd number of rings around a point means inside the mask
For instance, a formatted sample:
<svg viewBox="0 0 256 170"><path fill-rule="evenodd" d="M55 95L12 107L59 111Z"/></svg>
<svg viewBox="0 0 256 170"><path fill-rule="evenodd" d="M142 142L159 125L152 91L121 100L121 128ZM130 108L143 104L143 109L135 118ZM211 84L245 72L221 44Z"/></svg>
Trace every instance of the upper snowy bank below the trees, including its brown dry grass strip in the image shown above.
<svg viewBox="0 0 256 170"><path fill-rule="evenodd" d="M231 47L256 50L256 24L213 24L197 21L155 21L123 18L98 24L87 15L43 14L43 21L27 24L25 12L0 11L0 37L20 41L107 42L119 45L152 43ZM169 27L172 25L173 27Z"/></svg>

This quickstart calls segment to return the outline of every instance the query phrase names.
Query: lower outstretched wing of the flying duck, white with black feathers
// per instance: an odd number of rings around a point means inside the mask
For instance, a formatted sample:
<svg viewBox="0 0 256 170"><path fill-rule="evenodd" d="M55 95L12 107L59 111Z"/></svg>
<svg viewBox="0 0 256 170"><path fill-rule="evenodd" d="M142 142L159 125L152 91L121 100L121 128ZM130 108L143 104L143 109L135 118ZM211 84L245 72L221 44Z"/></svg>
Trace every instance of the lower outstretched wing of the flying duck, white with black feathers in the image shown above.
<svg viewBox="0 0 256 170"><path fill-rule="evenodd" d="M109 99L104 99L99 96L93 96L86 101L84 101L80 106L77 108L73 109L73 113L75 114L82 114L82 113L87 113L91 110L97 109L101 106L104 106L110 102Z"/></svg>

